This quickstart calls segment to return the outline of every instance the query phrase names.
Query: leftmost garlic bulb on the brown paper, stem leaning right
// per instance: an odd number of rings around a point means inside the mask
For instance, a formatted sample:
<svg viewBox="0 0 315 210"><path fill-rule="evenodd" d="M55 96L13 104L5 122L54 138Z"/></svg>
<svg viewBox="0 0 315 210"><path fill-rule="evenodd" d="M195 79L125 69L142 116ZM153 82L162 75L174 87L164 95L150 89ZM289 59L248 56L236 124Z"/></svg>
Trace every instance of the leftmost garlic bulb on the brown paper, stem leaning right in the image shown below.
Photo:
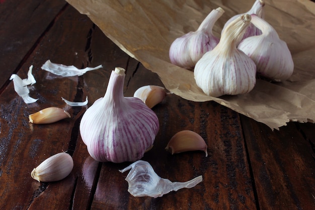
<svg viewBox="0 0 315 210"><path fill-rule="evenodd" d="M192 69L205 52L212 50L219 42L219 39L213 35L212 28L223 13L222 8L212 10L197 31L175 39L169 52L171 63Z"/></svg>

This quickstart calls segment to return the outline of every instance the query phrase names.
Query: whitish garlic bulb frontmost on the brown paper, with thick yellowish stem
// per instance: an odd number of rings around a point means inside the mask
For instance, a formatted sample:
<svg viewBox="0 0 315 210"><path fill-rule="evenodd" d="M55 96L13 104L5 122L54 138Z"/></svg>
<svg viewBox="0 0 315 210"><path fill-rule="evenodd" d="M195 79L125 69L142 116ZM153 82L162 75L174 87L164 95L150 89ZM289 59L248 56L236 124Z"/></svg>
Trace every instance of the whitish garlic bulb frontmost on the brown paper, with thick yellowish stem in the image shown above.
<svg viewBox="0 0 315 210"><path fill-rule="evenodd" d="M212 97L250 92L256 84L256 65L237 49L240 38L250 24L246 14L233 20L225 29L220 42L197 62L194 77L198 87Z"/></svg>

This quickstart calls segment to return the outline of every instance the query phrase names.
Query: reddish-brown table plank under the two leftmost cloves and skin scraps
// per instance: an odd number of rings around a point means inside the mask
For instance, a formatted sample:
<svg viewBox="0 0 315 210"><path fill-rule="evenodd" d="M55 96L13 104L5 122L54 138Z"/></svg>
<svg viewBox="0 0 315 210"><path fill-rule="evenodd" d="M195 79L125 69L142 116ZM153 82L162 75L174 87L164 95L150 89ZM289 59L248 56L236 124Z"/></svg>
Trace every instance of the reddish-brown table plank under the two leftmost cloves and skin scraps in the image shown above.
<svg viewBox="0 0 315 210"><path fill-rule="evenodd" d="M73 28L75 22L80 27ZM30 54L18 75L26 77L28 67L33 64L37 83L31 89L31 96L39 98L34 104L25 104L14 92L13 83L1 94L1 209L67 209L70 207L77 174L88 154L75 155L75 168L71 175L60 182L38 183L30 172L51 155L67 151L73 153L78 135L78 121L82 108L70 108L61 97L73 100L80 78L61 78L40 67L47 60L74 64L78 67L88 63L85 51L87 36L94 24L68 7L58 21L45 34L41 43ZM69 33L71 32L71 33ZM76 39L73 39L73 36ZM56 47L59 46L59 47ZM85 58L85 59L84 59ZM83 86L83 84L81 84ZM83 94L80 96L83 100ZM47 125L28 122L28 115L49 106L64 108L71 114L70 119ZM7 133L7 136L4 136ZM72 138L75 137L74 142ZM80 164L82 163L82 164ZM80 165L77 165L80 164ZM90 193L90 191L88 191ZM62 195L62 199L60 197ZM88 200L87 200L88 203ZM84 204L84 200L82 200ZM9 206L7 206L9 205ZM86 204L88 205L88 204ZM66 208L65 208L66 206Z"/></svg>

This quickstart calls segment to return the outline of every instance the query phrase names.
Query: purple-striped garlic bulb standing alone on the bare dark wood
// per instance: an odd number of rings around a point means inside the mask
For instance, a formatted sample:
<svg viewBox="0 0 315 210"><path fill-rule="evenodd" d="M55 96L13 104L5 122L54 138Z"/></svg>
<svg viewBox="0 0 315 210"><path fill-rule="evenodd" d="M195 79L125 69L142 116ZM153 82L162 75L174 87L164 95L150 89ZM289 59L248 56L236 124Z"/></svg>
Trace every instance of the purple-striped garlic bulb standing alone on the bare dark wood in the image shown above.
<svg viewBox="0 0 315 210"><path fill-rule="evenodd" d="M121 163L139 160L154 142L159 119L143 101L124 97L125 69L112 71L103 98L84 113L80 133L97 161Z"/></svg>

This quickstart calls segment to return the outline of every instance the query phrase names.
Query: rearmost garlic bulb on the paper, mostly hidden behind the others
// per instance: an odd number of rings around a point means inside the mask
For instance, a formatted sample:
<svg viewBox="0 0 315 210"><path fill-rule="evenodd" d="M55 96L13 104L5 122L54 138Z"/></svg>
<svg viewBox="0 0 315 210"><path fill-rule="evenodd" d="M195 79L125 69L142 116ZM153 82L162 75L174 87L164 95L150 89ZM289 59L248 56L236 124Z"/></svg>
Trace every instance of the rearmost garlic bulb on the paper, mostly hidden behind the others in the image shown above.
<svg viewBox="0 0 315 210"><path fill-rule="evenodd" d="M252 8L244 14L239 14L239 15L235 15L233 17L231 17L223 26L222 32L225 30L226 26L228 26L228 24L230 22L232 22L233 20L237 19L238 17L240 17L241 15L245 15L245 14L256 14L257 16L264 18L265 13L264 13L264 6L265 6L265 1L264 0L256 0L255 3L253 4ZM243 37L241 38L241 40L250 37L250 36L256 36L256 35L260 35L261 34L261 30L257 27L255 27L253 24L250 24L248 26L248 28L246 29Z"/></svg>

